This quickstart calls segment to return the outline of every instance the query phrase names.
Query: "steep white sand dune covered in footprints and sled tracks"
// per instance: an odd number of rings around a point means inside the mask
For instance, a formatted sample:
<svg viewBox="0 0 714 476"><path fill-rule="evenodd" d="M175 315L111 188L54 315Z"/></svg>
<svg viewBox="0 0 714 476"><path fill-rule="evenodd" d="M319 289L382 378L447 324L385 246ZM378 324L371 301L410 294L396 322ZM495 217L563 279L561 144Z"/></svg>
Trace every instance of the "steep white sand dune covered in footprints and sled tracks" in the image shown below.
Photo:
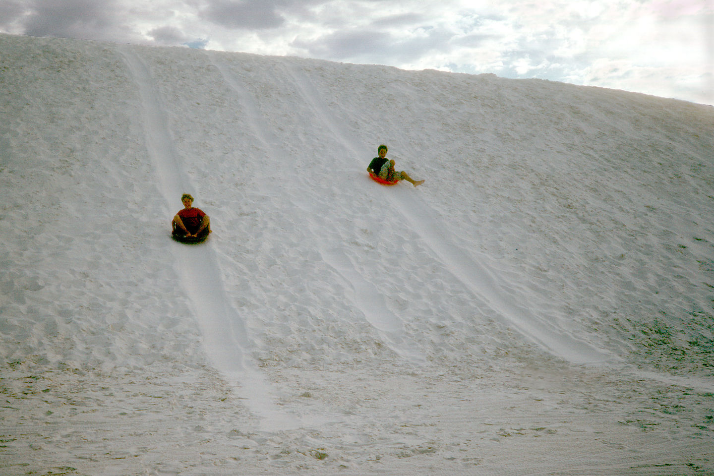
<svg viewBox="0 0 714 476"><path fill-rule="evenodd" d="M0 474L714 474L713 108L0 51Z"/></svg>

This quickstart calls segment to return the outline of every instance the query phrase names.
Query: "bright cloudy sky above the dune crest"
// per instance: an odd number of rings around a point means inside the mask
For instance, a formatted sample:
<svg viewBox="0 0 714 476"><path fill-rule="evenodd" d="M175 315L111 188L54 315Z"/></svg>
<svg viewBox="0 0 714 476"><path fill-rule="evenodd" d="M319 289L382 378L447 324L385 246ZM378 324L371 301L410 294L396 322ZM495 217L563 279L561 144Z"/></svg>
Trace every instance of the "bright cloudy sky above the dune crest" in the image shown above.
<svg viewBox="0 0 714 476"><path fill-rule="evenodd" d="M0 32L493 73L714 104L714 0L0 0Z"/></svg>

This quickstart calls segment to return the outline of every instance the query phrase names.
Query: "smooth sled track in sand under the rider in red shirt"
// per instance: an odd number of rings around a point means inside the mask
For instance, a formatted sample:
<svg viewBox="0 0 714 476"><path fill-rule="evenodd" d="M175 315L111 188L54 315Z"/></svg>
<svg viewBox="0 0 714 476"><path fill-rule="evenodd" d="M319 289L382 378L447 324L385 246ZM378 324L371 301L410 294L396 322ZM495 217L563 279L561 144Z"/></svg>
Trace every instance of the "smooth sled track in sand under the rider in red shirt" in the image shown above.
<svg viewBox="0 0 714 476"><path fill-rule="evenodd" d="M120 51L139 89L146 151L156 168L159 191L166 204L164 214L169 217L173 213L171 204L178 203L181 193L192 189L191 183L178 161L161 94L148 67L130 47ZM167 226L168 221L169 218ZM168 231L166 240L169 240ZM228 300L211 241L199 246L171 241L171 253L181 276L181 286L193 305L193 315L201 328L203 348L213 365L245 399L248 408L261 417L263 429L296 425L292 415L279 410L269 384L251 362L246 324Z"/></svg>

